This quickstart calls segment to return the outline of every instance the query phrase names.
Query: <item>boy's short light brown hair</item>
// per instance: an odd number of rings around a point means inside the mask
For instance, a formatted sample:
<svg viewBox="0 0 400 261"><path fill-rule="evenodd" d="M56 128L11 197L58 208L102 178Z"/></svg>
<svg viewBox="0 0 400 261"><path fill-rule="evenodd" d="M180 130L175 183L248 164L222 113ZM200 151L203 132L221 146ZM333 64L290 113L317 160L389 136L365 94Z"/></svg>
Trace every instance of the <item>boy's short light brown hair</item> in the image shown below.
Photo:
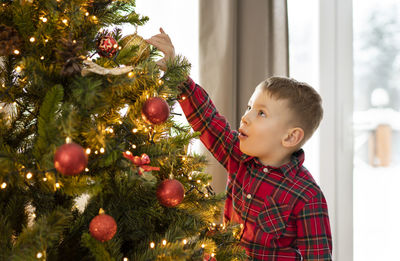
<svg viewBox="0 0 400 261"><path fill-rule="evenodd" d="M258 87L276 100L287 100L293 120L304 131L303 145L318 128L322 117L321 96L310 85L287 77L270 77Z"/></svg>

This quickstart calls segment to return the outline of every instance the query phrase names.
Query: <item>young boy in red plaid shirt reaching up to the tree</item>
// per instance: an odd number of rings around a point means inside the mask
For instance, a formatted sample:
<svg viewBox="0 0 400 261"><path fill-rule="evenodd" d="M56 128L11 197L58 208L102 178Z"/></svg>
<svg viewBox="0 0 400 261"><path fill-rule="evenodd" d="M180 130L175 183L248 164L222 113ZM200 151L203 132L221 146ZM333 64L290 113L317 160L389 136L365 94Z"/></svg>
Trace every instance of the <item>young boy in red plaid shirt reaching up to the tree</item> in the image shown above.
<svg viewBox="0 0 400 261"><path fill-rule="evenodd" d="M165 32L147 40L175 55ZM322 119L321 98L305 83L286 77L261 82L238 131L190 78L179 101L200 139L228 171L225 221L241 224L241 245L250 260L332 260L327 204L302 166L301 146Z"/></svg>

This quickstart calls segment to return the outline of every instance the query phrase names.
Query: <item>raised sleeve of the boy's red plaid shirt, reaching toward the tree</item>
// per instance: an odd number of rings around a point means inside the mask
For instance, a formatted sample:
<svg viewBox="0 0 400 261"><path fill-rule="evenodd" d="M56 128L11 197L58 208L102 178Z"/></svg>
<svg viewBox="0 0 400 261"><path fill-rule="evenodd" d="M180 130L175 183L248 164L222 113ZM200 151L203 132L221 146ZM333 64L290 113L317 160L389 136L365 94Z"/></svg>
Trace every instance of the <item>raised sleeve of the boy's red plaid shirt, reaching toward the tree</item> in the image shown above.
<svg viewBox="0 0 400 261"><path fill-rule="evenodd" d="M207 92L191 78L179 87L179 104L193 130L201 133L200 140L214 157L228 170L237 171L242 152L238 132L232 131L224 116L220 115Z"/></svg>

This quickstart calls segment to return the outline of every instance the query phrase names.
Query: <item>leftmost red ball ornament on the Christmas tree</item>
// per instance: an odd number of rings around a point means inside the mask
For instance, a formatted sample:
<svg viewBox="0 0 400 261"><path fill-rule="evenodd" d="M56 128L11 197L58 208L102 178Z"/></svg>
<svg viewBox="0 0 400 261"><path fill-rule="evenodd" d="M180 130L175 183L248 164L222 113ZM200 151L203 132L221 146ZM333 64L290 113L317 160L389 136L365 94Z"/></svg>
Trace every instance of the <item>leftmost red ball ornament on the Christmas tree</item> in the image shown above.
<svg viewBox="0 0 400 261"><path fill-rule="evenodd" d="M81 173L87 165L85 150L76 143L66 143L57 148L54 154L54 167L66 176Z"/></svg>

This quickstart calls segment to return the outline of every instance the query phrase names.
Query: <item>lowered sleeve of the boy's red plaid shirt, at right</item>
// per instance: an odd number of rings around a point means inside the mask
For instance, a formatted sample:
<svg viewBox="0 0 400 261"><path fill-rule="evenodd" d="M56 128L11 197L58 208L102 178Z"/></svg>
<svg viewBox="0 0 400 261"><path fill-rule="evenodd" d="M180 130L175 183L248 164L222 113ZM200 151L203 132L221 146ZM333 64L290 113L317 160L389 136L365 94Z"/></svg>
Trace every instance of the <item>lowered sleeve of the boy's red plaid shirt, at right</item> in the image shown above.
<svg viewBox="0 0 400 261"><path fill-rule="evenodd" d="M297 248L304 261L332 260L328 207L322 193L314 196L297 216Z"/></svg>

